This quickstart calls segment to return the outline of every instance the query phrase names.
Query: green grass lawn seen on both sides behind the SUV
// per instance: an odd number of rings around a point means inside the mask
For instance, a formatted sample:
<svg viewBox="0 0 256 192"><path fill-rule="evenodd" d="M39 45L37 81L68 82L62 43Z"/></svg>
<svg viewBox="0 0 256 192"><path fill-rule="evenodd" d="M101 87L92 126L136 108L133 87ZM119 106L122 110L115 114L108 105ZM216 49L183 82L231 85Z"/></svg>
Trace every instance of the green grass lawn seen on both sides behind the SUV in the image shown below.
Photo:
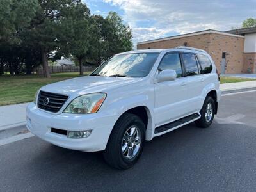
<svg viewBox="0 0 256 192"><path fill-rule="evenodd" d="M90 72L85 72L85 75ZM78 72L52 74L51 79L42 76L0 76L0 106L31 102L36 91L45 84L79 77ZM255 81L256 79L242 79L237 77L221 77L221 83L234 83L240 81Z"/></svg>

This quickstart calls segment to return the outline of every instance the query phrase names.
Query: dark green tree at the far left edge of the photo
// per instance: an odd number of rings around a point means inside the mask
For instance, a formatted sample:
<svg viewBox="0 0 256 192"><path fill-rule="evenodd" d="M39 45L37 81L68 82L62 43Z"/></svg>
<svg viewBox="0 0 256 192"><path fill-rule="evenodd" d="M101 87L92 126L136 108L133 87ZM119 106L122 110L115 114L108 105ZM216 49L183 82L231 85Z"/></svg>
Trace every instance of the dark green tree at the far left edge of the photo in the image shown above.
<svg viewBox="0 0 256 192"><path fill-rule="evenodd" d="M24 72L26 59L34 59L35 50L26 50L22 32L29 28L39 8L37 0L0 1L0 75L8 68L10 74ZM28 56L26 56L26 54Z"/></svg>

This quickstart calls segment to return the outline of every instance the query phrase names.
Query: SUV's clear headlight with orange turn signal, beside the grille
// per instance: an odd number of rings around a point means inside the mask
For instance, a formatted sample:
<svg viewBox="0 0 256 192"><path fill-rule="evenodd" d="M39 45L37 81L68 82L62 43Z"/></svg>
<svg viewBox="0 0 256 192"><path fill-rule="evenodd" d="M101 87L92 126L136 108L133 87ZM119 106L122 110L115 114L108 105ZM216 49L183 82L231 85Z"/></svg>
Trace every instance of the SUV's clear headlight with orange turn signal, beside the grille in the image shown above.
<svg viewBox="0 0 256 192"><path fill-rule="evenodd" d="M81 95L68 104L64 113L97 113L106 96L106 93Z"/></svg>

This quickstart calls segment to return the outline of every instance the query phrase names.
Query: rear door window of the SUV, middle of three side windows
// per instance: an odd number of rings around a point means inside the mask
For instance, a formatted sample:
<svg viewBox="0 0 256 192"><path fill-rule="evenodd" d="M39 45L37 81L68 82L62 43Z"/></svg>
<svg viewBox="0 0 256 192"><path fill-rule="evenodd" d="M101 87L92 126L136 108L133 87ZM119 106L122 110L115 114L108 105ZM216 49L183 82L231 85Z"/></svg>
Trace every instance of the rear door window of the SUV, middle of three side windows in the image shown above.
<svg viewBox="0 0 256 192"><path fill-rule="evenodd" d="M182 53L182 58L186 68L187 76L195 76L199 74L195 54Z"/></svg>

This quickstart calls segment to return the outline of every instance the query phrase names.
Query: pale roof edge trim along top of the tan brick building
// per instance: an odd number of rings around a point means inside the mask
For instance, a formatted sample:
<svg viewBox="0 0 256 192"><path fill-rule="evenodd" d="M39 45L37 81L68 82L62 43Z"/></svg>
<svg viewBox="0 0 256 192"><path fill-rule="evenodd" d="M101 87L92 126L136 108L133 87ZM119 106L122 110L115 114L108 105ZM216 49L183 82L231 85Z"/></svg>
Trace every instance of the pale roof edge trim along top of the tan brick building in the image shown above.
<svg viewBox="0 0 256 192"><path fill-rule="evenodd" d="M183 37L187 37L187 36L203 35L203 34L207 34L207 33L216 33L216 34L220 34L220 35L227 35L227 36L235 36L235 37L238 37L238 38L244 38L244 36L242 36L242 35L235 35L235 34L223 32L223 31L207 29L207 30L204 30L204 31L196 31L196 32L193 32L193 33L186 33L186 34L183 34L183 35L175 35L175 36L169 36L169 37L164 37L164 38L157 38L155 40L148 40L148 41L144 41L144 42L138 42L137 45L150 44L150 43L154 43L154 42L161 42L161 41L164 41L164 40L172 40L172 39L175 39L175 38L183 38Z"/></svg>

